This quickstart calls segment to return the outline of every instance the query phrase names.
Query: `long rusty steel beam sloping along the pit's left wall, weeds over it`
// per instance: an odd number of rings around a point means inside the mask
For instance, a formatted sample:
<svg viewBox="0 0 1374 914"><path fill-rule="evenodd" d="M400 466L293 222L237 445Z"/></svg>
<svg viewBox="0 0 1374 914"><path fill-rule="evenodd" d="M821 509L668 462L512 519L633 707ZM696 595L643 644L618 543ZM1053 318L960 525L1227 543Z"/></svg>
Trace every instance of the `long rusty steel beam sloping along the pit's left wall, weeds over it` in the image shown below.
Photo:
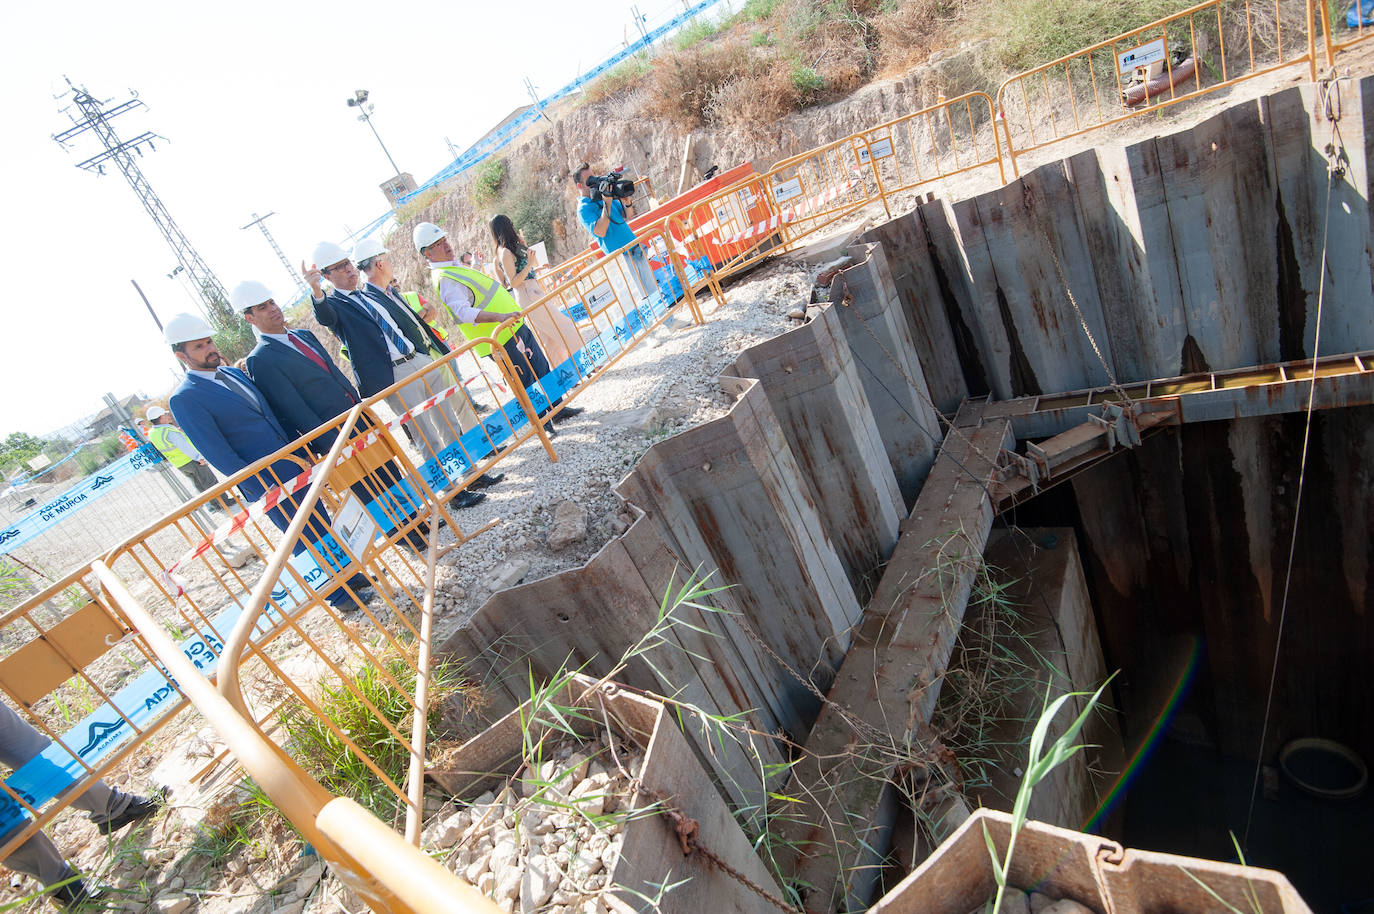
<svg viewBox="0 0 1374 914"><path fill-rule="evenodd" d="M866 753L871 737L846 717L890 734L899 748L930 719L992 528L996 454L1011 445L1004 418L947 437L807 739L789 786L807 801L790 811L783 844L785 871L812 887L808 911L855 910L871 899L889 840L894 761L890 752Z"/></svg>

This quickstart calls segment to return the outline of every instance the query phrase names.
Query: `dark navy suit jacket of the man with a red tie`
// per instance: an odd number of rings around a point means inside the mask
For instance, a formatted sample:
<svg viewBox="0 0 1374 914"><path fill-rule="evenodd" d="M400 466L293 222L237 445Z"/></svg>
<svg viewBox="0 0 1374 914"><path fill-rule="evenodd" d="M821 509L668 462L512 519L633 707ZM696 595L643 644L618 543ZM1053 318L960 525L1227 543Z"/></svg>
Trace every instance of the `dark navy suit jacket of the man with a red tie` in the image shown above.
<svg viewBox="0 0 1374 914"><path fill-rule="evenodd" d="M247 366L249 375L272 407L282 429L289 437L298 438L348 412L361 397L313 333L291 333L315 350L327 371L322 371L295 346L267 338L258 339L258 345L249 353ZM324 455L333 445L334 433L330 432L312 441L311 449Z"/></svg>

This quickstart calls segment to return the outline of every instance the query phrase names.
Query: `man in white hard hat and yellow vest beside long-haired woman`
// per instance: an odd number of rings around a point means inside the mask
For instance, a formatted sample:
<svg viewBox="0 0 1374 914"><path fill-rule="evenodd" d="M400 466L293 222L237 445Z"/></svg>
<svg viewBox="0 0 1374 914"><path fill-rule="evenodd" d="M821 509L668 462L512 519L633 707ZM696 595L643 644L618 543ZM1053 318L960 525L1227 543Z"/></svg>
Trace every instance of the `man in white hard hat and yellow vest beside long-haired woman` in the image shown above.
<svg viewBox="0 0 1374 914"><path fill-rule="evenodd" d="M448 232L434 223L420 223L412 232L415 250L429 261L430 278L434 280L434 294L453 315L458 328L469 339L493 337L510 356L519 382L526 389L534 385L539 378L548 374L548 359L540 349L539 341L523 320L497 330L497 324L511 316L519 317L522 312L515 302L515 297L506 291L499 282L480 274L470 267L464 267L453 258L453 246L448 241ZM478 356L491 353L489 344L474 348ZM550 408L558 408L562 397L555 397ZM572 419L581 414L578 407L562 407L558 412L561 419ZM548 426L552 432L552 425Z"/></svg>

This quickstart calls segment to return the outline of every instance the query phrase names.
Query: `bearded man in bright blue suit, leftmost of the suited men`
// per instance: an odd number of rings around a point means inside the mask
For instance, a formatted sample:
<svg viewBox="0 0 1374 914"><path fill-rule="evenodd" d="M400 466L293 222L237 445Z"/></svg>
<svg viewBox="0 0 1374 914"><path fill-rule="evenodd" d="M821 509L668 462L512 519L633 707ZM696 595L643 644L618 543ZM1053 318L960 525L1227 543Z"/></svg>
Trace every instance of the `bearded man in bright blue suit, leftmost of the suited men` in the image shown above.
<svg viewBox="0 0 1374 914"><path fill-rule="evenodd" d="M172 394L172 415L177 425L191 438L201 455L224 476L234 476L250 463L280 451L291 443L276 421L272 408L246 374L224 363L218 348L210 338L213 328L195 315L176 315L166 323L164 337L172 346L179 361L185 366L185 379ZM279 481L286 482L309 466L309 455L297 451L293 456L300 463L279 459L240 481L239 492L249 502L258 500L268 488ZM297 502L282 499L278 507L268 511L268 518L278 529L286 531ZM316 506L313 517L305 525L304 537L317 543L328 533L330 515ZM295 543L293 553L301 553L305 543ZM371 597L371 581L365 575L353 575L346 587L330 594L330 605L344 610L357 609L359 599ZM357 599L349 590L357 594Z"/></svg>

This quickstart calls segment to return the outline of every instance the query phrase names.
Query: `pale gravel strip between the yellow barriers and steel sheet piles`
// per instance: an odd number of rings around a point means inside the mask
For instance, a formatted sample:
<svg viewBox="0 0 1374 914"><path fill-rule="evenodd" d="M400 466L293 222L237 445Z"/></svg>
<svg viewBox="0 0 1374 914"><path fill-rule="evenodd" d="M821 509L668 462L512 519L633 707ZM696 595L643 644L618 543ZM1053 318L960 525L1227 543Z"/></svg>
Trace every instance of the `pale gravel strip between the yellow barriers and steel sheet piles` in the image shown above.
<svg viewBox="0 0 1374 914"><path fill-rule="evenodd" d="M585 412L558 426L556 462L534 441L503 459L495 469L506 480L486 489L484 503L455 514L466 529L493 518L502 522L444 557L436 588L437 639L492 595L504 565L528 562L523 580L547 577L581 565L622 529L614 485L654 441L730 410L732 399L717 375L743 349L789 327L787 312L805 305L813 275L807 265L779 261L745 276L703 326L660 327L588 385L573 401ZM555 507L565 500L585 513L587 535L555 550L550 535L558 526Z"/></svg>

